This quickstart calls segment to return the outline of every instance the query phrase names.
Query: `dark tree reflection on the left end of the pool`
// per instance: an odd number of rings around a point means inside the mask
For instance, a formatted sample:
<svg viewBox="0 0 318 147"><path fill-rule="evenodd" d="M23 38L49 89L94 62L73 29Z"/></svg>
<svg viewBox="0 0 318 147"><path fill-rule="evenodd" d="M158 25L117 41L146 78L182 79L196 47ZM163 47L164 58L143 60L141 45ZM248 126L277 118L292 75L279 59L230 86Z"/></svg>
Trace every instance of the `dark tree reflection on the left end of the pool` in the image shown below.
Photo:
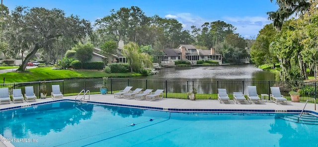
<svg viewBox="0 0 318 147"><path fill-rule="evenodd" d="M81 111L74 111L75 107ZM60 132L67 125L90 119L92 109L93 105L77 106L73 102L60 102L3 111L0 112L0 133L3 135L10 131L12 137L23 138L29 133L44 136L51 131Z"/></svg>

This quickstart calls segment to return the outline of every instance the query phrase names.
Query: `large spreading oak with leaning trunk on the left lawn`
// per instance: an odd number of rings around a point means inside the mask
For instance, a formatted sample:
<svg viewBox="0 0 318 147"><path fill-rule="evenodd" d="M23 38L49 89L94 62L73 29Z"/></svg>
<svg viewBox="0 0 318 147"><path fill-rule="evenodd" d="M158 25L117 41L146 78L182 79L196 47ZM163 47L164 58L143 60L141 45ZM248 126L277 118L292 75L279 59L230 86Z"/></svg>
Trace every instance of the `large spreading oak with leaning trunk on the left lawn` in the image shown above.
<svg viewBox="0 0 318 147"><path fill-rule="evenodd" d="M27 53L18 71L24 71L41 48L52 52L53 43L59 38L72 40L72 43L85 35L91 34L89 21L80 20L78 16L65 16L63 10L17 6L5 20L2 37L12 51Z"/></svg>

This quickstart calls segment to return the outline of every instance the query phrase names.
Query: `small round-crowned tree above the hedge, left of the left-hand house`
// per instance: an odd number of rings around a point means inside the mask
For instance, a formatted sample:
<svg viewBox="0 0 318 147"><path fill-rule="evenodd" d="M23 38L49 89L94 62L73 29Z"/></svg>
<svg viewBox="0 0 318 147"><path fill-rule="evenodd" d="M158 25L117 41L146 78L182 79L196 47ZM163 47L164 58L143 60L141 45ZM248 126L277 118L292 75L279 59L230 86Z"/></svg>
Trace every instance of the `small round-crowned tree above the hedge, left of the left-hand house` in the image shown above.
<svg viewBox="0 0 318 147"><path fill-rule="evenodd" d="M72 50L76 51L75 57L81 62L81 68L83 68L83 64L92 58L94 46L89 42L84 45L79 43Z"/></svg>

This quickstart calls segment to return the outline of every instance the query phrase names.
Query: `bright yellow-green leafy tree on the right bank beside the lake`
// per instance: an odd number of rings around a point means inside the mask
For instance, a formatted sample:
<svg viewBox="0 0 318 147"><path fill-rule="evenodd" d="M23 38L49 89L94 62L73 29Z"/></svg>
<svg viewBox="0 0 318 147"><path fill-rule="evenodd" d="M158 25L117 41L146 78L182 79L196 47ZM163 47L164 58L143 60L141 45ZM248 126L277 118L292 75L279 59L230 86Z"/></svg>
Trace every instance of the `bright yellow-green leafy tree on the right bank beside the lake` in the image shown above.
<svg viewBox="0 0 318 147"><path fill-rule="evenodd" d="M306 67L300 52L304 46L300 19L290 19L282 27L282 31L276 35L270 45L270 51L277 56L282 68L281 79L302 80L307 79ZM302 26L302 25L301 25Z"/></svg>

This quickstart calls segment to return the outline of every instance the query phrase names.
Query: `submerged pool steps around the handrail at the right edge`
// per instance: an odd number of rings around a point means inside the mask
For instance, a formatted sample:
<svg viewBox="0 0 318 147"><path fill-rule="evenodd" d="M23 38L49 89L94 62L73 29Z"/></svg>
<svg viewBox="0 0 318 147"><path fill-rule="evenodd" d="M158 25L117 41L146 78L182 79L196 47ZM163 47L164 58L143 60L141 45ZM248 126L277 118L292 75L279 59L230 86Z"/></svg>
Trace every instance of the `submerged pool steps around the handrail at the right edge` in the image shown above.
<svg viewBox="0 0 318 147"><path fill-rule="evenodd" d="M316 124L318 125L318 117L310 115L310 114L303 114L301 118L299 118L299 115L288 115L284 117L280 117L284 120L288 120L291 122L296 123L303 123L303 124Z"/></svg>

